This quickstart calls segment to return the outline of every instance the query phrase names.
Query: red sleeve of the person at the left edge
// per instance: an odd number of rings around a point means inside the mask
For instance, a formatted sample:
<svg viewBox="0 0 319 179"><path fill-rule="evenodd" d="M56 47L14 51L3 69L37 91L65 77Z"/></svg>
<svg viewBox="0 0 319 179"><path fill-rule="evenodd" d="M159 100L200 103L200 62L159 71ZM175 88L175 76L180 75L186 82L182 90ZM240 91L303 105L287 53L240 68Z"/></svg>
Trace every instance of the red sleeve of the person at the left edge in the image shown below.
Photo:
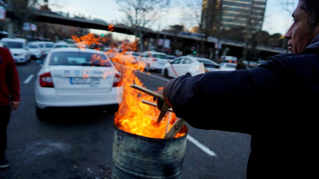
<svg viewBox="0 0 319 179"><path fill-rule="evenodd" d="M16 64L9 50L6 50L8 63L8 88L11 95L11 101L20 101L20 82Z"/></svg>

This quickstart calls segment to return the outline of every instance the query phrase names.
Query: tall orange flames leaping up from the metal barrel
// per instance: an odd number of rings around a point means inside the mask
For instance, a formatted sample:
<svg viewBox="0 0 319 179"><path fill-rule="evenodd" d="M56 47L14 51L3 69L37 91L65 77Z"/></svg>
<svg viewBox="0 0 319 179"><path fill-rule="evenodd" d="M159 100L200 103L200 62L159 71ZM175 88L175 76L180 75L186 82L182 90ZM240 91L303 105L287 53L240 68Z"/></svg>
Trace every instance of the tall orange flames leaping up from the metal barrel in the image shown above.
<svg viewBox="0 0 319 179"><path fill-rule="evenodd" d="M88 36L92 37L92 35L89 34ZM90 39L93 39L93 41L95 39L88 38L88 36L76 39L92 44L93 42L90 41ZM146 63L145 61L136 60L131 55L125 54L128 50L136 50L136 42L129 43L127 41L123 41L120 47L122 48L121 53L119 53L119 51L115 48L111 48L108 52L106 52L115 65L115 68L122 75L123 93L118 94L122 95L122 102L119 104L119 109L115 113L115 125L126 132L150 138L163 139L167 132L167 126L168 129L170 129L177 118L174 114L170 115L169 112L167 112L167 115L163 118L159 126L153 125L156 122L160 111L155 107L141 102L141 99L152 102L153 97L130 87L130 84L143 86L143 83L140 79L138 79L136 74L138 73L137 71L144 71ZM101 61L99 56L94 56L92 59L94 62L105 62L103 60ZM168 123L169 119L171 120ZM185 135L185 133L177 133L175 138L183 135Z"/></svg>

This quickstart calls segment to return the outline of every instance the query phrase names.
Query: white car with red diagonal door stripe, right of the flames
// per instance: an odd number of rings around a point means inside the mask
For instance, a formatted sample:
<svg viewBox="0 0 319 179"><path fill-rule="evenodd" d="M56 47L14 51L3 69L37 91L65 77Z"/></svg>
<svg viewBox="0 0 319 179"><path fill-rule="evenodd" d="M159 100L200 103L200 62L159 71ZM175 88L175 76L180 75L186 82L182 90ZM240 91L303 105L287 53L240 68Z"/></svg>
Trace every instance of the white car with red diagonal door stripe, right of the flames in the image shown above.
<svg viewBox="0 0 319 179"><path fill-rule="evenodd" d="M209 71L219 71L219 64L214 61L194 56L182 56L165 64L162 75L173 78L182 75L195 76L199 74L201 63L204 63L204 67Z"/></svg>

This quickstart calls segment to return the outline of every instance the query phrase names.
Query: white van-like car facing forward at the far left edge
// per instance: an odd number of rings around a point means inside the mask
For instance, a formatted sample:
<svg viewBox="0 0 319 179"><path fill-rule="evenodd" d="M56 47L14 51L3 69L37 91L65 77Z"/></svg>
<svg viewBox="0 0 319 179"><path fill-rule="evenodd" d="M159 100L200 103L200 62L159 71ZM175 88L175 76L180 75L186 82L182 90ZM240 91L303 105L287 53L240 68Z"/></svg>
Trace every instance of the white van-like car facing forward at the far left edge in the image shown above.
<svg viewBox="0 0 319 179"><path fill-rule="evenodd" d="M31 60L30 56L28 55L29 47L26 45L26 39L3 38L0 40L0 42L7 44L10 47L10 52L16 63L26 64L26 62Z"/></svg>

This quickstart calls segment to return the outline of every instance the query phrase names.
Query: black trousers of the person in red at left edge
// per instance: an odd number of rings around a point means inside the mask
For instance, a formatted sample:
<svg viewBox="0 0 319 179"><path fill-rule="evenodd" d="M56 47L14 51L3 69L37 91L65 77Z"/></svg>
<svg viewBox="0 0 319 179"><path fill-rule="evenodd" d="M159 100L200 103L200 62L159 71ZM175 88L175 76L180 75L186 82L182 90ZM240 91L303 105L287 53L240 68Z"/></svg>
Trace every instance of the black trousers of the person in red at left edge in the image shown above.
<svg viewBox="0 0 319 179"><path fill-rule="evenodd" d="M7 125L9 124L11 106L0 106L0 158L7 149Z"/></svg>

